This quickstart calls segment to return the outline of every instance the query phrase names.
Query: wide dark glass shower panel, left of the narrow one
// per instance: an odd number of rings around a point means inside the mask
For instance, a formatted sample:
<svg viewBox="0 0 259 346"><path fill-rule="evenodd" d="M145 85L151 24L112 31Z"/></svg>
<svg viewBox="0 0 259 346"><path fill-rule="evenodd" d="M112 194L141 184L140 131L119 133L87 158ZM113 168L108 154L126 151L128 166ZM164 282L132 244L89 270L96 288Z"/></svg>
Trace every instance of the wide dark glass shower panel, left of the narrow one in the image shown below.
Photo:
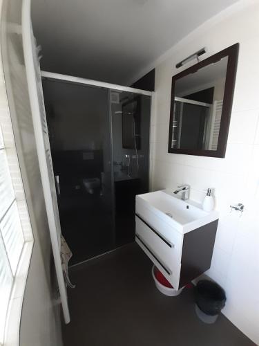
<svg viewBox="0 0 259 346"><path fill-rule="evenodd" d="M61 229L75 264L115 246L108 90L55 80L43 87Z"/></svg>

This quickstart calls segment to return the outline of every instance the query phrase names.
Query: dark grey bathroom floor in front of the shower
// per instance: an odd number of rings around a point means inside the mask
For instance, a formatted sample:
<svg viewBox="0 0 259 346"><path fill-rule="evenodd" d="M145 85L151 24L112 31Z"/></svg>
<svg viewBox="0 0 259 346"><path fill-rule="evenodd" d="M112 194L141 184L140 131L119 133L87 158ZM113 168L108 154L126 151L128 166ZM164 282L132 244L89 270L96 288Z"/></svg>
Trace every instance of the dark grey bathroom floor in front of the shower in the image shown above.
<svg viewBox="0 0 259 346"><path fill-rule="evenodd" d="M155 288L151 262L137 244L70 269L71 322L65 346L249 346L223 315L198 320L193 289L166 297Z"/></svg>

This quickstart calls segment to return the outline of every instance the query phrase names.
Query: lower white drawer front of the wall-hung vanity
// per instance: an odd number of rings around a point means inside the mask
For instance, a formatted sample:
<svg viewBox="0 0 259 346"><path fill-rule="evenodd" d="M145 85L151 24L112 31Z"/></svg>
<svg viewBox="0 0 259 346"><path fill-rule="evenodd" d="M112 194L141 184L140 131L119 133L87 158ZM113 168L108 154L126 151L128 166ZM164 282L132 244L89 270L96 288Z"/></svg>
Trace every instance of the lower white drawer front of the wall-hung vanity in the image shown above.
<svg viewBox="0 0 259 346"><path fill-rule="evenodd" d="M165 268L168 268L168 274L170 271L175 271L181 262L181 256L179 251L176 251L175 244L166 239L164 235L157 232L154 228L148 226L143 219L140 219L136 215L136 236L146 244L153 253L154 257L160 259L160 262L164 264Z"/></svg>

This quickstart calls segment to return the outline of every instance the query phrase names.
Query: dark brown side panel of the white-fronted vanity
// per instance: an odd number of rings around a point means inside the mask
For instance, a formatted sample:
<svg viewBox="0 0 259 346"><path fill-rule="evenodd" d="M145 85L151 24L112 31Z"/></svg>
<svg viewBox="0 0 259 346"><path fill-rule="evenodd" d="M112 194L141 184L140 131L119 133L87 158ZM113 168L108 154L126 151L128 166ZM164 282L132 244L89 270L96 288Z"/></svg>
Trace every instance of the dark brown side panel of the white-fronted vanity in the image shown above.
<svg viewBox="0 0 259 346"><path fill-rule="evenodd" d="M210 268L217 227L215 220L184 235L179 288Z"/></svg>

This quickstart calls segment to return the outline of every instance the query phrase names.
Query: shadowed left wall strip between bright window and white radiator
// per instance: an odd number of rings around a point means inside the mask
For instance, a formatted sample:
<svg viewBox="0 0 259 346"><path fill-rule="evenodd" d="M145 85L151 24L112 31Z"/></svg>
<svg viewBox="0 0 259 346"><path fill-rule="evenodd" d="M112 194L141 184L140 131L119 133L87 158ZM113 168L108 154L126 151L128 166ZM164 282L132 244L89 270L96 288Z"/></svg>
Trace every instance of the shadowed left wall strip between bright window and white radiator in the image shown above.
<svg viewBox="0 0 259 346"><path fill-rule="evenodd" d="M3 17L1 18L4 78L35 239L23 298L19 345L61 346L59 306L55 304L50 274L51 248L48 221L21 49L21 3L22 1L19 0L3 0Z"/></svg>

